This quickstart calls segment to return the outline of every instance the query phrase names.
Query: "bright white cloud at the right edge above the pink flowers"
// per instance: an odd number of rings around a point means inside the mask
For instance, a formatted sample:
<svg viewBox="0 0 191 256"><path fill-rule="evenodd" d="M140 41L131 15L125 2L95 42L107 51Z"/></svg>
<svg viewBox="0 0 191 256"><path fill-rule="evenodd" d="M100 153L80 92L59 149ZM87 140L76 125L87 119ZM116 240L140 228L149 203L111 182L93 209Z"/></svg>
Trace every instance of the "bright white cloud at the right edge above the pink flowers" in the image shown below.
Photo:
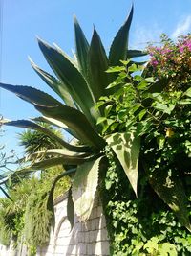
<svg viewBox="0 0 191 256"><path fill-rule="evenodd" d="M191 30L191 15L185 17L178 23L177 28L172 33L172 38L177 38L179 35L185 35Z"/></svg>

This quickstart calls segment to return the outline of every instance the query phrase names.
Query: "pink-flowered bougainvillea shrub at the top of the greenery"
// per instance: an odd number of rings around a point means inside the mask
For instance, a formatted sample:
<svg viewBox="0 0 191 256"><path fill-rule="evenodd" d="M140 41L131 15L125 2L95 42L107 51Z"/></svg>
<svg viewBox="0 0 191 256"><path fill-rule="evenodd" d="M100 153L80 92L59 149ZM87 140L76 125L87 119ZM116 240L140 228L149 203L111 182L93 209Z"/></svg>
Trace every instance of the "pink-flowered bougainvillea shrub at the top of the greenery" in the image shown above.
<svg viewBox="0 0 191 256"><path fill-rule="evenodd" d="M177 42L161 35L161 46L150 45L147 50L151 75L169 79L169 90L185 91L191 80L191 35L180 36Z"/></svg>

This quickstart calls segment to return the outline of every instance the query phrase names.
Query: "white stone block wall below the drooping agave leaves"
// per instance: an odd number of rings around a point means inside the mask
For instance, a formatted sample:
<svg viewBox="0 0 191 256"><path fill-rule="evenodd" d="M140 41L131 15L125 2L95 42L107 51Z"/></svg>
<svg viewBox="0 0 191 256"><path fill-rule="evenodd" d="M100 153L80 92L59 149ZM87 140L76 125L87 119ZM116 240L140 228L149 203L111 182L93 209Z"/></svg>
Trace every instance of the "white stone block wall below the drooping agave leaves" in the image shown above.
<svg viewBox="0 0 191 256"><path fill-rule="evenodd" d="M55 228L49 245L38 249L36 256L108 256L109 238L105 217L98 198L95 200L90 220L79 222L75 217L71 231L67 220L67 197L55 200Z"/></svg>

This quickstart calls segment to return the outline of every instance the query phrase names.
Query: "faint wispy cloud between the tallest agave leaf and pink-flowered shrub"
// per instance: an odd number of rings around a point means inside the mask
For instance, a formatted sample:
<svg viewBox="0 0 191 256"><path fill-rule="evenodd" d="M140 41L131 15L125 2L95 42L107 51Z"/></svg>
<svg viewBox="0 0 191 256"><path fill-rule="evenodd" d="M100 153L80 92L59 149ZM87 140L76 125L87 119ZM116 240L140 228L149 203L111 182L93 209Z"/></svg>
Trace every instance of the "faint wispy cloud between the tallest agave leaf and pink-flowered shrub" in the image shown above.
<svg viewBox="0 0 191 256"><path fill-rule="evenodd" d="M153 24L149 28L143 26L137 26L134 33L131 34L130 47L144 49L148 43L158 43L160 41L159 35L162 30L159 29L158 24Z"/></svg>

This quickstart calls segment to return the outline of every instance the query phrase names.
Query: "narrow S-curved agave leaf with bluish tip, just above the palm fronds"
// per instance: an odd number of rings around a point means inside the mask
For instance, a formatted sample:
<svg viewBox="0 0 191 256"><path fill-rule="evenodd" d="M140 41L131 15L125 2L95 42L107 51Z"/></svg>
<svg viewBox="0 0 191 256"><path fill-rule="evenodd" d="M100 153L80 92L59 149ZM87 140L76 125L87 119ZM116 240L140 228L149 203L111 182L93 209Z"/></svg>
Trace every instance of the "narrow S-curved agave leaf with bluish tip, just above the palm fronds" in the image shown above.
<svg viewBox="0 0 191 256"><path fill-rule="evenodd" d="M75 152L90 151L90 148L87 147L87 146L74 146L74 145L71 145L71 144L67 143L62 138L55 135L50 129L43 128L40 125L37 125L37 124L35 124L35 123L33 123L32 121L29 121L29 120L17 120L17 121L7 122L7 123L4 123L4 124L6 126L13 126L13 127L18 127L18 128L31 128L31 129L43 132L46 135L48 135L49 137L53 138L61 146L63 146L64 148L66 148L69 151L75 151Z"/></svg>

